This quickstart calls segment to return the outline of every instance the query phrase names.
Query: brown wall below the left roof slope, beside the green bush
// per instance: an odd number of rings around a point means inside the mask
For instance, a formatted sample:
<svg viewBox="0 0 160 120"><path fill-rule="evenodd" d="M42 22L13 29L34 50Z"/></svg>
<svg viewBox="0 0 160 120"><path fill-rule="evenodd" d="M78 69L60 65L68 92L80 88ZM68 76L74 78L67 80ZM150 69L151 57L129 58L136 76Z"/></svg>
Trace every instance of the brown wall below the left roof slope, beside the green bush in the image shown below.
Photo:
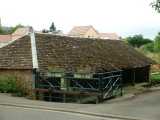
<svg viewBox="0 0 160 120"><path fill-rule="evenodd" d="M17 86L27 96L32 96L32 70L0 70L0 76L14 76L17 79Z"/></svg>

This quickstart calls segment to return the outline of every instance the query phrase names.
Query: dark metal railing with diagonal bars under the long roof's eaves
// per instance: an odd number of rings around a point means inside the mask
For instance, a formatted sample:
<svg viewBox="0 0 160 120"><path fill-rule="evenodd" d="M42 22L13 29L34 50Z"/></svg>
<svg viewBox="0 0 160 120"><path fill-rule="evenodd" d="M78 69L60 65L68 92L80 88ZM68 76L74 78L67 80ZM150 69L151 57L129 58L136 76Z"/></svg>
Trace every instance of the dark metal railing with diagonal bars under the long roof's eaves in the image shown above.
<svg viewBox="0 0 160 120"><path fill-rule="evenodd" d="M97 95L97 98L101 100L122 95L122 71L93 73L91 78L76 78L75 73L62 73L62 75L57 75L58 77L55 74L51 73L48 77L44 77L35 72L35 89L45 89L50 94L64 93L64 96L68 94ZM50 97L70 99L63 95L51 95Z"/></svg>

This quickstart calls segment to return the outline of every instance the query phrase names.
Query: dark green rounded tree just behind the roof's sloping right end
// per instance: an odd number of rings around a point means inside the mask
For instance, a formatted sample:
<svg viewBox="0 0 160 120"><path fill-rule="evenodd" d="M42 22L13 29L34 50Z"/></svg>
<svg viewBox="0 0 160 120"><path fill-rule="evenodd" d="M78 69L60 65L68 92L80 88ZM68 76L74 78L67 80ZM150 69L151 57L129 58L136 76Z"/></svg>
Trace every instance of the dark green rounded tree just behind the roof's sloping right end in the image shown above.
<svg viewBox="0 0 160 120"><path fill-rule="evenodd" d="M142 35L134 35L133 37L127 37L126 41L128 42L129 45L137 48L145 44L152 43L152 40L143 38Z"/></svg>

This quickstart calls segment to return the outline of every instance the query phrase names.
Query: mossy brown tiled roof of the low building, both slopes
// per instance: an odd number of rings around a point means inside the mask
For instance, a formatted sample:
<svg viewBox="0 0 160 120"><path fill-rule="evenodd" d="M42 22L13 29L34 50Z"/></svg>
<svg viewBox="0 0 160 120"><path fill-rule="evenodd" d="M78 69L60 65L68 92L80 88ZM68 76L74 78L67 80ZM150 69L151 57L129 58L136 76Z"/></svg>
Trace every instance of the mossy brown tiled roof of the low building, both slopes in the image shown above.
<svg viewBox="0 0 160 120"><path fill-rule="evenodd" d="M32 69L30 37L0 48L0 69ZM110 71L150 65L152 61L123 41L36 34L40 71L63 68Z"/></svg>

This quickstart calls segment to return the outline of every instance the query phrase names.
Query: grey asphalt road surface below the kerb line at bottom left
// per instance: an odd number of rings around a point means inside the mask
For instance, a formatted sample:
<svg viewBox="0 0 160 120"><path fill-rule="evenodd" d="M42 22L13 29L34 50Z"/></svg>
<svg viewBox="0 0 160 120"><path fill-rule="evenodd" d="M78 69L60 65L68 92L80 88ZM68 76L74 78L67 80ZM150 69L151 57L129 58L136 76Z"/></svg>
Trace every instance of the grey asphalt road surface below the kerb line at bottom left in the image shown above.
<svg viewBox="0 0 160 120"><path fill-rule="evenodd" d="M117 120L50 110L0 105L0 120Z"/></svg>

